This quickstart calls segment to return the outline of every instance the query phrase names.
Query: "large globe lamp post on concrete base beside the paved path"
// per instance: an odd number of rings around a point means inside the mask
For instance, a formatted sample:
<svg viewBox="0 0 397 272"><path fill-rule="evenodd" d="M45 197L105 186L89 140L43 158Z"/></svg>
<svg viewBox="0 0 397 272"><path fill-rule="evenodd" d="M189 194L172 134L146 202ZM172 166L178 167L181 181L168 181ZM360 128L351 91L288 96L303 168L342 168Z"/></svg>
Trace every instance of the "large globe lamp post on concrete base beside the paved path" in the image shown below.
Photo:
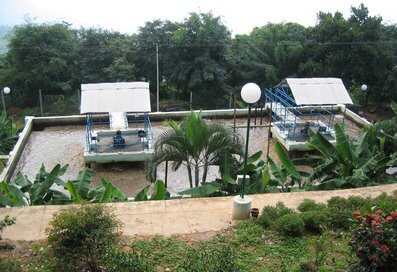
<svg viewBox="0 0 397 272"><path fill-rule="evenodd" d="M241 89L241 98L245 103L248 104L248 122L247 122L247 137L245 141L245 153L244 153L244 168L243 168L243 180L241 183L240 195L234 198L233 204L233 219L241 220L249 218L249 212L251 209L251 199L245 196L245 181L247 174L247 159L248 159L248 144L249 144L249 132L251 122L251 106L259 101L261 97L261 89L255 83L247 83Z"/></svg>

